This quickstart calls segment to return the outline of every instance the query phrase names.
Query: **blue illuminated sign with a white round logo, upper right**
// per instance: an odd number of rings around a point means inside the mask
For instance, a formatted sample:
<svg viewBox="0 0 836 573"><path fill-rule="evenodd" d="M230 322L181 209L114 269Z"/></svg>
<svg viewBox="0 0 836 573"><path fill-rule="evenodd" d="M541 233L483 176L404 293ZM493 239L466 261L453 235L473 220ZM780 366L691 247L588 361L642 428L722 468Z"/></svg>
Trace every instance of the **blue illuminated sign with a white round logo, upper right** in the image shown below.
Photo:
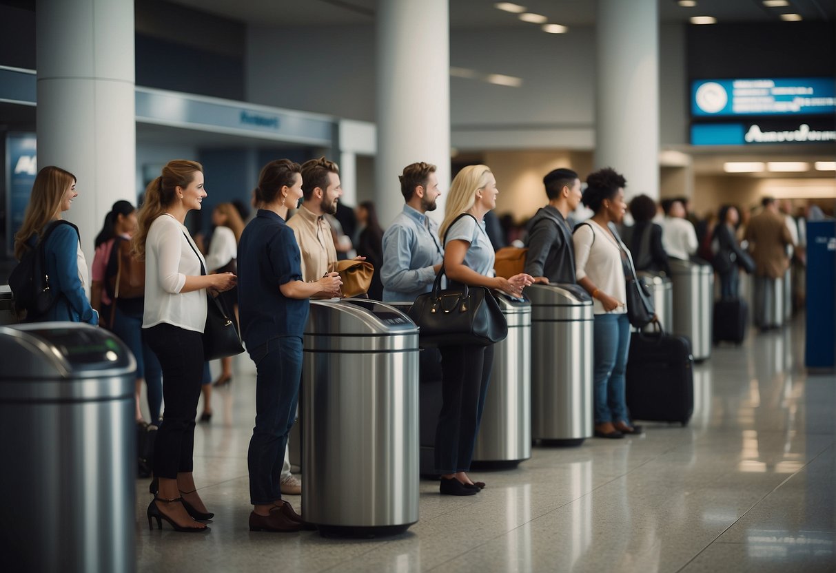
<svg viewBox="0 0 836 573"><path fill-rule="evenodd" d="M701 79L691 83L691 115L695 118L833 113L833 78Z"/></svg>

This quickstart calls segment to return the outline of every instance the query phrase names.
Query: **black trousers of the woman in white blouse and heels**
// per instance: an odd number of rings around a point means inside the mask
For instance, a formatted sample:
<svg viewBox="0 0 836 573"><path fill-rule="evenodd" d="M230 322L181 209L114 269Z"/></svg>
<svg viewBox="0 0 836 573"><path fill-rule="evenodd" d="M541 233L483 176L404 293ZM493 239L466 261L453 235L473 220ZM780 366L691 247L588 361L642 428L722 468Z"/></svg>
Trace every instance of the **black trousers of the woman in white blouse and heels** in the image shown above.
<svg viewBox="0 0 836 573"><path fill-rule="evenodd" d="M191 472L195 446L195 416L203 378L203 340L200 332L171 324L147 329L151 350L162 367L162 395L166 415L154 444L154 475L176 479Z"/></svg>

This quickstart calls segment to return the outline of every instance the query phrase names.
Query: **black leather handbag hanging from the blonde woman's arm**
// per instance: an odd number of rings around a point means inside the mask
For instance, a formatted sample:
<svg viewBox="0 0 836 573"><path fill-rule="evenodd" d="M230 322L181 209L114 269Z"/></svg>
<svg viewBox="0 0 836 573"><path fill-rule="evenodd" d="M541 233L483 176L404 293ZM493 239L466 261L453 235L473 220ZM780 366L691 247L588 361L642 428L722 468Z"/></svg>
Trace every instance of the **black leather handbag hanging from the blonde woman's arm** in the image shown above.
<svg viewBox="0 0 836 573"><path fill-rule="evenodd" d="M441 289L444 267L432 291L415 298L409 316L418 325L421 347L487 346L508 335L497 299L485 287Z"/></svg>

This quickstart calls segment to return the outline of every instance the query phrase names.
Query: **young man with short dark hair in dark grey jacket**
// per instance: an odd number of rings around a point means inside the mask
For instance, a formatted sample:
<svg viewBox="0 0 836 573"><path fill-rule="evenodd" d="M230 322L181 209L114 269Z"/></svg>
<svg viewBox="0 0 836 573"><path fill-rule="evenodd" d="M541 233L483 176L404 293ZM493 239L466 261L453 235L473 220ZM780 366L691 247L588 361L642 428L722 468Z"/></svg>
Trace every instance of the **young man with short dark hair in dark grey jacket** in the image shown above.
<svg viewBox="0 0 836 573"><path fill-rule="evenodd" d="M574 284L574 245L568 215L581 198L578 174L569 169L556 169L543 177L548 205L541 207L528 221L525 272L535 282Z"/></svg>

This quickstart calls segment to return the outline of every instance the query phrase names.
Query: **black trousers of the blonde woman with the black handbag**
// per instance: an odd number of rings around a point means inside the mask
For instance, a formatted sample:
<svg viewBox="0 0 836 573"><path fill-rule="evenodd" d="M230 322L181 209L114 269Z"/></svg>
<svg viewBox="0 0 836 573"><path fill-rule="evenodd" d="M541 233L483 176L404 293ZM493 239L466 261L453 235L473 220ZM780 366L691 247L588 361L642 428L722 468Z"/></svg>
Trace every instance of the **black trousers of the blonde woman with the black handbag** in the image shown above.
<svg viewBox="0 0 836 573"><path fill-rule="evenodd" d="M493 345L441 347L441 412L436 426L436 471L470 469L491 380Z"/></svg>

